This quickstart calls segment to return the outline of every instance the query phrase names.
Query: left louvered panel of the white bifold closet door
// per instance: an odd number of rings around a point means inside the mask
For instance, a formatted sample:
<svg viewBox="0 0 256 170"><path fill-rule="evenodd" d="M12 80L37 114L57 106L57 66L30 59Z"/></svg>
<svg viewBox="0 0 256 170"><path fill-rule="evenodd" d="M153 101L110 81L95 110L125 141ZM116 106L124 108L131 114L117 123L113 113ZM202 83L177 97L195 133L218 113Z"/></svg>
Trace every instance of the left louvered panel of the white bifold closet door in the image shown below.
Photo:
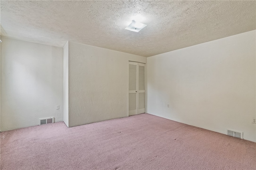
<svg viewBox="0 0 256 170"><path fill-rule="evenodd" d="M138 114L138 63L129 62L129 116Z"/></svg>

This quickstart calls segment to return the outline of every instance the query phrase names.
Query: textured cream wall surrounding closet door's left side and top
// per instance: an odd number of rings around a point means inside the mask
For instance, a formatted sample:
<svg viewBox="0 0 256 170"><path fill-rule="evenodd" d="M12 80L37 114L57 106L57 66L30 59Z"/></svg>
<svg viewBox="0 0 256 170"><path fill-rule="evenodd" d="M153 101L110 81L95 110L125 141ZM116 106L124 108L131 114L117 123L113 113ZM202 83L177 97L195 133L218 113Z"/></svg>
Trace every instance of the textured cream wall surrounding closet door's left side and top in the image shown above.
<svg viewBox="0 0 256 170"><path fill-rule="evenodd" d="M128 117L128 61L146 57L69 42L69 127Z"/></svg>

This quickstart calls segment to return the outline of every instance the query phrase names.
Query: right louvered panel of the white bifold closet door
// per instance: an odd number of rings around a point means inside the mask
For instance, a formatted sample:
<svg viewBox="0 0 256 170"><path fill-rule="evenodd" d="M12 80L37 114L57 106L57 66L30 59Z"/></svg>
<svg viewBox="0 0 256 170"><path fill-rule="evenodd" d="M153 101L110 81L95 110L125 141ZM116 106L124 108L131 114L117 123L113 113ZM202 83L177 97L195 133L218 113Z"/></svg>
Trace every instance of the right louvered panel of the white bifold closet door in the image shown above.
<svg viewBox="0 0 256 170"><path fill-rule="evenodd" d="M138 63L138 114L146 111L145 66L143 63Z"/></svg>

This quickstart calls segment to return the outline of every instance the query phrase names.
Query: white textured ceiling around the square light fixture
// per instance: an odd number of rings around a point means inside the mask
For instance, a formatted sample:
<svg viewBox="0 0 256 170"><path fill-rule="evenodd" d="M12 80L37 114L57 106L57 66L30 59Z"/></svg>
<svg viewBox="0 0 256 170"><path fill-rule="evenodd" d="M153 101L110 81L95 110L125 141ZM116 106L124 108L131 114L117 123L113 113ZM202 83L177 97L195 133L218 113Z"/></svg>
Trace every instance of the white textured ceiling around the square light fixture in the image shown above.
<svg viewBox="0 0 256 170"><path fill-rule="evenodd" d="M73 41L145 57L256 29L256 1L0 3L1 36L56 46ZM125 30L138 16L148 26Z"/></svg>

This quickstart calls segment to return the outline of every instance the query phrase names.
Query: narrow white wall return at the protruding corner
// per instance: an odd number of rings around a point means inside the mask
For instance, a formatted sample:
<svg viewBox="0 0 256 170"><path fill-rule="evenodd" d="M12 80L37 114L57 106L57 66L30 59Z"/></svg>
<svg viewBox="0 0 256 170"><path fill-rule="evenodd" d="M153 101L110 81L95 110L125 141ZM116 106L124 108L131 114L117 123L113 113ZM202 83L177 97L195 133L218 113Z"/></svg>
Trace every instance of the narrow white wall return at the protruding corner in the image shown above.
<svg viewBox="0 0 256 170"><path fill-rule="evenodd" d="M68 42L63 47L63 121L68 125Z"/></svg>

